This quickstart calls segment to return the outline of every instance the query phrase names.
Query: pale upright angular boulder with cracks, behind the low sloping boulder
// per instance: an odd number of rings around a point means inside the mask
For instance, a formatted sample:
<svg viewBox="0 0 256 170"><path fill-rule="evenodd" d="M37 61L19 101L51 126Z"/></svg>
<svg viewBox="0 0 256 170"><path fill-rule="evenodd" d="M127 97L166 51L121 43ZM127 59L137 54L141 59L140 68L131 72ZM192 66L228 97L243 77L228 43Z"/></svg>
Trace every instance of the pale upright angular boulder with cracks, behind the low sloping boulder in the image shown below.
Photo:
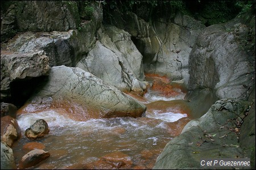
<svg viewBox="0 0 256 170"><path fill-rule="evenodd" d="M131 35L111 25L105 25L98 35L100 40L76 66L122 91L133 90L142 95L146 90L142 55Z"/></svg>

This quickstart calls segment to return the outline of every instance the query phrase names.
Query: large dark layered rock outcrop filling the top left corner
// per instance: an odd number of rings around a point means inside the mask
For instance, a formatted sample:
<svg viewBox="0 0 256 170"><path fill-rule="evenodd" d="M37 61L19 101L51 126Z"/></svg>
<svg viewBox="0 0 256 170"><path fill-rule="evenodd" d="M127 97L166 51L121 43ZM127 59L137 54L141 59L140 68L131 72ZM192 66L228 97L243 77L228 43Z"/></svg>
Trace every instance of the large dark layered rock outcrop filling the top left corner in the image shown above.
<svg viewBox="0 0 256 170"><path fill-rule="evenodd" d="M93 8L91 20L83 20L80 23L76 3L81 2L20 1L13 3L9 7L10 9L6 11L9 11L9 13L13 11L13 13L6 15L9 18L10 16L17 18L17 21L14 21L14 25L16 25L15 23L18 22L19 19L27 20L23 25L16 28L18 31L26 32L18 33L13 39L5 41L5 43L1 44L1 50L2 47L13 53L38 52L44 50L46 56L49 57L49 66L75 66L81 59L81 56L88 53L89 50L93 48L93 44L96 42L96 32L101 27L102 22L102 7L98 6L97 2L92 1L89 2L89 6ZM46 7L47 10L45 10ZM20 11L22 14L16 16L20 8L26 8L26 12ZM34 10L38 10L36 11L36 15L28 17L27 14L24 14L27 13L27 10L29 11L33 8ZM59 9L61 9L61 11L57 12L58 15L56 16L55 11ZM48 17L45 18L44 15ZM8 18L7 16L4 17L1 22L5 22L5 18ZM43 19L41 17L43 17ZM21 21L19 21L19 23L22 24ZM26 24L28 25L24 26ZM37 25L36 28L34 28L35 24ZM63 24L63 27L61 27L61 24ZM1 24L1 41L2 33L6 35L4 30L2 32L2 26L4 25L5 24ZM6 22L5 27L11 27L11 22ZM27 27L26 30L23 30L25 29L23 27Z"/></svg>

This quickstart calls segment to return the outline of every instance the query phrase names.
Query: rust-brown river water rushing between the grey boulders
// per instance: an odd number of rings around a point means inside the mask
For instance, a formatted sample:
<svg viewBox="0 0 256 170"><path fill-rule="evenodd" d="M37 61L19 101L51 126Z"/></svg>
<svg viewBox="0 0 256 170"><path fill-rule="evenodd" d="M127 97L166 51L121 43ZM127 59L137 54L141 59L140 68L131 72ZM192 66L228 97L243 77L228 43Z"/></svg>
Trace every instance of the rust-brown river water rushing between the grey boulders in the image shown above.
<svg viewBox="0 0 256 170"><path fill-rule="evenodd" d="M18 114L22 138L13 145L15 161L25 155L27 143L36 143L51 156L28 169L152 169L164 146L191 120L183 99L148 89L142 103L146 117L74 121L56 111ZM27 139L24 131L44 119L49 134ZM31 143L31 145L32 145ZM40 145L39 145L40 144Z"/></svg>

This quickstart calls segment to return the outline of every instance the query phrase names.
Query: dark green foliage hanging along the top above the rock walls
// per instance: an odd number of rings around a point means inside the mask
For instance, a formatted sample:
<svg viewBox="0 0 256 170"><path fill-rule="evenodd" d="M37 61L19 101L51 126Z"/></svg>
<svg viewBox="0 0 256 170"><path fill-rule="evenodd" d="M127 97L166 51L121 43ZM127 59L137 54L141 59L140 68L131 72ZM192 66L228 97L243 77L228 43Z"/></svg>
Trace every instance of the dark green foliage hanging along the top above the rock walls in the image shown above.
<svg viewBox="0 0 256 170"><path fill-rule="evenodd" d="M209 26L227 22L239 12L250 10L255 1L105 1L102 5L109 18L113 18L113 11L118 11L120 15L134 12L146 22L152 18L172 21L176 13L181 12ZM112 20L109 18L105 20Z"/></svg>

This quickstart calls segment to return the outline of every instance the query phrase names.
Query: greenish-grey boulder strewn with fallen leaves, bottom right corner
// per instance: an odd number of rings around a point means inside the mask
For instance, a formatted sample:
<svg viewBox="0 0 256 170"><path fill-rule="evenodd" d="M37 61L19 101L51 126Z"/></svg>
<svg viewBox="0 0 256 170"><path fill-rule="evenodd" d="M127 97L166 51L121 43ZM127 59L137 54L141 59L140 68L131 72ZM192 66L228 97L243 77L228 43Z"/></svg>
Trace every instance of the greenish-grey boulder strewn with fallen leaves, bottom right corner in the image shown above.
<svg viewBox="0 0 256 170"><path fill-rule="evenodd" d="M251 104L240 99L216 101L167 143L153 169L200 169L201 159L250 158L251 151L241 146L240 128Z"/></svg>

